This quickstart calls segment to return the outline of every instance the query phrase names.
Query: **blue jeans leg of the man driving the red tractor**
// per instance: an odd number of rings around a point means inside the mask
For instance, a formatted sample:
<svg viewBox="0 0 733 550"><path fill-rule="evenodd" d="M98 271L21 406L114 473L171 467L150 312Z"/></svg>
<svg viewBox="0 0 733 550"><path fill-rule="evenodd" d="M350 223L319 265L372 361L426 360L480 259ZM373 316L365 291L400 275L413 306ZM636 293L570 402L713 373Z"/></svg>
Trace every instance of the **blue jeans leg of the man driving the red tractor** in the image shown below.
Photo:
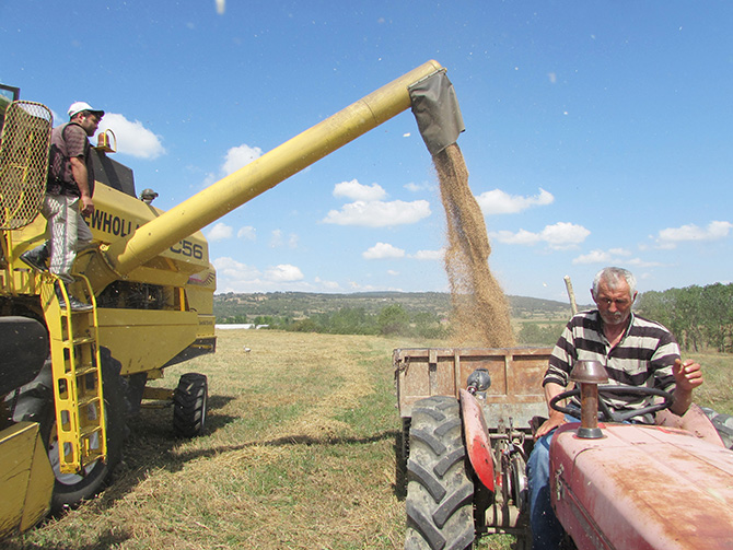
<svg viewBox="0 0 733 550"><path fill-rule="evenodd" d="M577 422L575 419L571 421ZM550 503L549 445L554 433L555 430L539 437L527 459L533 550L557 550L565 536L565 529Z"/></svg>

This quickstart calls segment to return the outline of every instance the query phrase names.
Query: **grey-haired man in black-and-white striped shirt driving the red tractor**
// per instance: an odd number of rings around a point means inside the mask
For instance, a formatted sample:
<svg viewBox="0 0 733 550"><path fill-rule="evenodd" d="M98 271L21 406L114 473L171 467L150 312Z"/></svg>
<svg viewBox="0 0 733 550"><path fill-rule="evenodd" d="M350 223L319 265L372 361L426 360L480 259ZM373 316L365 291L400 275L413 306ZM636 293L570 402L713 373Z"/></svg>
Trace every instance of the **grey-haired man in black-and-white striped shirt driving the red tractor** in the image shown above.
<svg viewBox="0 0 733 550"><path fill-rule="evenodd" d="M593 280L591 295L597 309L574 315L555 344L543 379L549 419L537 430L527 460L530 524L533 549L557 549L563 529L550 505L549 445L556 428L568 419L549 408L549 401L568 387L570 371L579 360L598 361L608 372L608 383L649 386L672 393L672 412L682 416L693 402L693 389L702 384L700 365L679 359L679 347L659 323L631 312L637 299L636 279L626 269L608 267ZM645 396L616 395L607 400L613 411L641 409ZM653 423L649 416L641 422Z"/></svg>

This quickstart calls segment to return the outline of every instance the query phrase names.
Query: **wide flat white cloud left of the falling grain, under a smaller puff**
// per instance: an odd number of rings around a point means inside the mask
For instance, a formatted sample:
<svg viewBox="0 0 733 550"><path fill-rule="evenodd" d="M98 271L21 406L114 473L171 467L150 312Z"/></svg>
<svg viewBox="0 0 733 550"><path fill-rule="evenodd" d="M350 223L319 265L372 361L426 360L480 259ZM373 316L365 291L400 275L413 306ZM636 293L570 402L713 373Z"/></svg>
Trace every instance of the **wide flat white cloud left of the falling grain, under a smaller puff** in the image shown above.
<svg viewBox="0 0 733 550"><path fill-rule="evenodd" d="M344 204L341 210L331 210L323 223L336 225L360 225L364 227L392 227L417 223L430 215L430 203L427 200L392 202L358 200Z"/></svg>

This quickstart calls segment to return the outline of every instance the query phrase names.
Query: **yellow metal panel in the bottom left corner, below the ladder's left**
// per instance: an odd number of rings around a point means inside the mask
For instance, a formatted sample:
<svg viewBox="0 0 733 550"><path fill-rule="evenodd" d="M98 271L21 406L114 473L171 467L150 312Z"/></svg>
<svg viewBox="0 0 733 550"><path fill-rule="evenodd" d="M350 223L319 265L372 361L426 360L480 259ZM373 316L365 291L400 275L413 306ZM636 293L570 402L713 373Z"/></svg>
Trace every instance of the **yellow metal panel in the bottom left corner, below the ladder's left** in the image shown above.
<svg viewBox="0 0 733 550"><path fill-rule="evenodd" d="M35 525L48 512L53 490L38 424L21 422L0 432L0 537Z"/></svg>

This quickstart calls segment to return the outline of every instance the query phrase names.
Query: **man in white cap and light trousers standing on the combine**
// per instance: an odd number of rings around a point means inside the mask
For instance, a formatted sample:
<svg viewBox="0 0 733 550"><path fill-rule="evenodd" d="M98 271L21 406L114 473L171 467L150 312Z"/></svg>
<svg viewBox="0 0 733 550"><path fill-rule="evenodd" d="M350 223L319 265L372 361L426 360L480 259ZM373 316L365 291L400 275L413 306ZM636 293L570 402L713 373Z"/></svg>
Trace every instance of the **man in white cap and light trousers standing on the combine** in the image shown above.
<svg viewBox="0 0 733 550"><path fill-rule="evenodd" d="M82 215L94 212L94 167L89 138L94 136L104 110L92 108L84 102L69 107L69 122L54 128L49 154L48 183L42 213L48 220L51 238L21 259L34 269L46 270L50 256L50 272L62 283L72 283L71 267L77 251L92 242L92 232ZM50 250L49 250L50 245ZM62 309L67 308L63 293L56 283L56 295ZM69 295L69 306L74 312L92 308Z"/></svg>

